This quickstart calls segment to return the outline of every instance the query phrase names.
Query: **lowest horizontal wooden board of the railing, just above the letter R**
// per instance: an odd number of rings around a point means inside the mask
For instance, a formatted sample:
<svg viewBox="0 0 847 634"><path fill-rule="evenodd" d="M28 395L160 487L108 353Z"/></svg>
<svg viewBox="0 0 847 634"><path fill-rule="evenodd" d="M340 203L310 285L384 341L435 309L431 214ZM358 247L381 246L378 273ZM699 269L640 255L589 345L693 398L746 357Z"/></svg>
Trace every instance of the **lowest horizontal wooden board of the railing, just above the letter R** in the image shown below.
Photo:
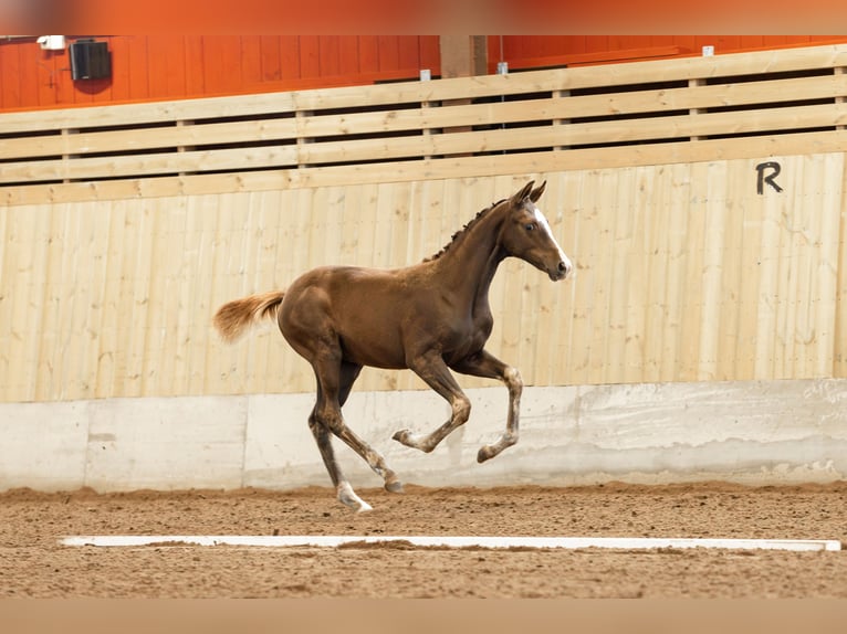
<svg viewBox="0 0 847 634"><path fill-rule="evenodd" d="M31 184L0 189L0 204L107 201L168 196L218 194L412 182L420 179L479 178L657 163L686 163L805 154L840 152L847 130L798 133L742 139L677 141L619 147L510 155L421 159L356 166L305 167L221 175L191 175L114 181Z"/></svg>

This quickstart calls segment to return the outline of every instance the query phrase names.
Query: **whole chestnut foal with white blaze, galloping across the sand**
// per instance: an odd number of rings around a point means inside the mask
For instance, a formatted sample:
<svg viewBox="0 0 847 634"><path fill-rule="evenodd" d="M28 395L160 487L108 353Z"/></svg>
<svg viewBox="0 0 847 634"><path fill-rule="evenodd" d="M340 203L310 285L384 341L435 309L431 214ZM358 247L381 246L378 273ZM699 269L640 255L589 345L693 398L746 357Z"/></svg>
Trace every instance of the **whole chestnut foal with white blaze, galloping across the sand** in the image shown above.
<svg viewBox="0 0 847 634"><path fill-rule="evenodd" d="M342 416L342 405L363 366L408 368L450 403L452 415L432 433L395 433L394 440L404 445L431 452L468 420L471 404L451 369L500 379L509 388L505 433L480 448L478 462L517 442L523 382L517 370L484 349L493 326L488 293L498 265L509 256L529 262L554 282L571 272L571 261L535 204L545 184L533 189L530 181L511 198L482 210L452 242L420 264L390 271L318 267L286 290L230 302L215 315L216 327L230 341L253 320L275 317L285 340L312 364L317 402L309 426L345 505L358 511L372 508L342 474L331 433L383 477L387 490L402 490L385 458L353 433Z"/></svg>

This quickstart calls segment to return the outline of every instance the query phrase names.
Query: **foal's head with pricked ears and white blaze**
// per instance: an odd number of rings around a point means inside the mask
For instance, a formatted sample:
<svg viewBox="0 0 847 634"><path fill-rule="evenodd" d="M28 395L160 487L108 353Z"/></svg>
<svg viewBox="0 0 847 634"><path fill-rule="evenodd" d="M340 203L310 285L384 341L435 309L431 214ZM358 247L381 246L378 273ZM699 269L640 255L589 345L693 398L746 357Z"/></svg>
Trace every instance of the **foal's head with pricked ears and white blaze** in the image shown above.
<svg viewBox="0 0 847 634"><path fill-rule="evenodd" d="M553 237L547 219L535 204L547 183L544 181L536 189L532 188L533 184L534 181L530 181L503 203L509 205L509 210L500 244L509 255L529 262L556 282L565 278L573 265Z"/></svg>

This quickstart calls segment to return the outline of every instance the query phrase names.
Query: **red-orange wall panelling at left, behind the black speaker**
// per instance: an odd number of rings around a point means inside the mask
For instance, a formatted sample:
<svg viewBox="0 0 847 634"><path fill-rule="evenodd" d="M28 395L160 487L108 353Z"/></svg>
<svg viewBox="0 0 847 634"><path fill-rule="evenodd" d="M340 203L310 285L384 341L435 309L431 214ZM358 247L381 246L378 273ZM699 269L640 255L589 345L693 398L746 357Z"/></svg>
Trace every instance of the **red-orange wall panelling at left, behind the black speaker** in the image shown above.
<svg viewBox="0 0 847 634"><path fill-rule="evenodd" d="M67 44L79 38L67 36ZM112 77L71 80L67 50L0 38L0 109L368 84L439 68L437 35L114 35Z"/></svg>

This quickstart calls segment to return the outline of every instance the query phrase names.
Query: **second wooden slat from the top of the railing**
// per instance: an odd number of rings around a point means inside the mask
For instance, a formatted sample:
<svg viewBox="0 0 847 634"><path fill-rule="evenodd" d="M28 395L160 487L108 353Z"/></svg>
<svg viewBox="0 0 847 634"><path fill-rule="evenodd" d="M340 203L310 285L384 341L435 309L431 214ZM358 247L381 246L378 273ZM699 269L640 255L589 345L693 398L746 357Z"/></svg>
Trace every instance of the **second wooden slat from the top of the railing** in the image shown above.
<svg viewBox="0 0 847 634"><path fill-rule="evenodd" d="M662 113L675 109L776 104L847 95L847 75L721 84L691 88L638 91L603 95L495 102L404 110L258 119L228 124L157 127L0 139L0 159L200 147L238 142L292 140L297 137L390 134L478 125L512 124L585 116Z"/></svg>

